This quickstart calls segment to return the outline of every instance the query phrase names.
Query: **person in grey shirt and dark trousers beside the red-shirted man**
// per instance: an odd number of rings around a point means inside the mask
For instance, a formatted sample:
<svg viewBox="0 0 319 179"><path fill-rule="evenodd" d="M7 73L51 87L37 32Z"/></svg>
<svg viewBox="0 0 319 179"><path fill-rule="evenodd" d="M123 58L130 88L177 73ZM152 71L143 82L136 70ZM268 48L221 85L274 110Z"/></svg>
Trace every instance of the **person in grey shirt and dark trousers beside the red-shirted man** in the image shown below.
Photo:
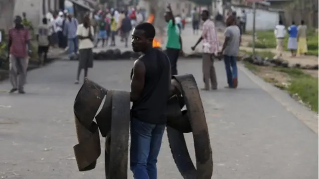
<svg viewBox="0 0 319 179"><path fill-rule="evenodd" d="M37 29L36 39L38 41L38 57L40 65L44 65L47 61L47 53L49 50L49 25L46 17L43 17L42 23L39 25Z"/></svg>

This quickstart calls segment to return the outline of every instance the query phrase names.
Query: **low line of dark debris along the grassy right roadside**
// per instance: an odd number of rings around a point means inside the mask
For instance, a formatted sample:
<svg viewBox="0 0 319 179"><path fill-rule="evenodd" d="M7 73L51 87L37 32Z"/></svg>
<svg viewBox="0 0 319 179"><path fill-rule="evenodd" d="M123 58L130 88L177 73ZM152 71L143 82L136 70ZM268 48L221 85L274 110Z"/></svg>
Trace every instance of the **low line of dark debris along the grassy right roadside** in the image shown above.
<svg viewBox="0 0 319 179"><path fill-rule="evenodd" d="M244 55L241 57L242 61L249 62L254 65L259 66L276 66L276 67L284 67L284 68L300 68L305 70L318 70L318 64L317 65L301 65L301 64L294 64L291 65L287 60L283 60L279 57L266 57L262 58L259 55Z"/></svg>

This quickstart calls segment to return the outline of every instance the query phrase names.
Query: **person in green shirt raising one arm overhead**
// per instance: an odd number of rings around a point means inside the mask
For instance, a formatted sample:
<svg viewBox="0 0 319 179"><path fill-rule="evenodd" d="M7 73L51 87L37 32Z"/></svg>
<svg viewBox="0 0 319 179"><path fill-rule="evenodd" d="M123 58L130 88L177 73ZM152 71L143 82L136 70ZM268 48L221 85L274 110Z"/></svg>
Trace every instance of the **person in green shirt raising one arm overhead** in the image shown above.
<svg viewBox="0 0 319 179"><path fill-rule="evenodd" d="M170 60L171 74L177 75L177 60L182 49L182 41L180 30L175 23L175 18L170 5L168 5L167 8L169 11L165 13L165 21L168 22L166 53Z"/></svg>

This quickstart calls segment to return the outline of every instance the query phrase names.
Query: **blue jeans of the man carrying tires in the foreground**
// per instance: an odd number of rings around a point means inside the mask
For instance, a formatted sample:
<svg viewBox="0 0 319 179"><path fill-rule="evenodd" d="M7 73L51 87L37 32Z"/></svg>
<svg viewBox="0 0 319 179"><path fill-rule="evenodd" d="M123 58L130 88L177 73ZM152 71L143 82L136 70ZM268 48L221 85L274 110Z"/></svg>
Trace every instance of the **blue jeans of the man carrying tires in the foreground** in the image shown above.
<svg viewBox="0 0 319 179"><path fill-rule="evenodd" d="M165 125L131 119L131 171L134 179L157 179L157 162Z"/></svg>

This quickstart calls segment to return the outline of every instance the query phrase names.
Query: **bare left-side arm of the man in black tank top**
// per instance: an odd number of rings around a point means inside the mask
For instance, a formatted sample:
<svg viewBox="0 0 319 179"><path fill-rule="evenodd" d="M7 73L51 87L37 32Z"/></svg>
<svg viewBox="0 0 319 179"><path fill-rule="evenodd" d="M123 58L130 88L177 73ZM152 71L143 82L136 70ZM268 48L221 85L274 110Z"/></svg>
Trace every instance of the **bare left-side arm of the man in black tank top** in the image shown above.
<svg viewBox="0 0 319 179"><path fill-rule="evenodd" d="M140 97L145 84L145 65L137 60L133 67L133 76L131 80L131 101L136 101Z"/></svg>

